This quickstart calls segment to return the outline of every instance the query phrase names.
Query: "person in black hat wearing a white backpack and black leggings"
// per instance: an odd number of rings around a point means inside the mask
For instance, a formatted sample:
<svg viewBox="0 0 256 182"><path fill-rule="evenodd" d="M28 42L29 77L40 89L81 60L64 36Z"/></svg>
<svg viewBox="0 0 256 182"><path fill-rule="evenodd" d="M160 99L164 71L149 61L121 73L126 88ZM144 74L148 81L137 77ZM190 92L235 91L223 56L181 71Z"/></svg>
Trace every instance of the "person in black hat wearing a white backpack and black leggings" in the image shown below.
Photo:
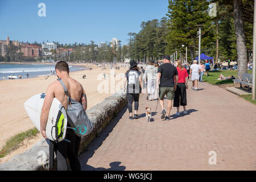
<svg viewBox="0 0 256 182"><path fill-rule="evenodd" d="M139 94L143 94L142 73L137 67L138 63L134 60L130 61L130 69L125 73L125 81L123 83L123 92L127 93L129 119L138 119ZM127 82L127 86L126 86ZM134 118L133 118L133 101L134 101Z"/></svg>

